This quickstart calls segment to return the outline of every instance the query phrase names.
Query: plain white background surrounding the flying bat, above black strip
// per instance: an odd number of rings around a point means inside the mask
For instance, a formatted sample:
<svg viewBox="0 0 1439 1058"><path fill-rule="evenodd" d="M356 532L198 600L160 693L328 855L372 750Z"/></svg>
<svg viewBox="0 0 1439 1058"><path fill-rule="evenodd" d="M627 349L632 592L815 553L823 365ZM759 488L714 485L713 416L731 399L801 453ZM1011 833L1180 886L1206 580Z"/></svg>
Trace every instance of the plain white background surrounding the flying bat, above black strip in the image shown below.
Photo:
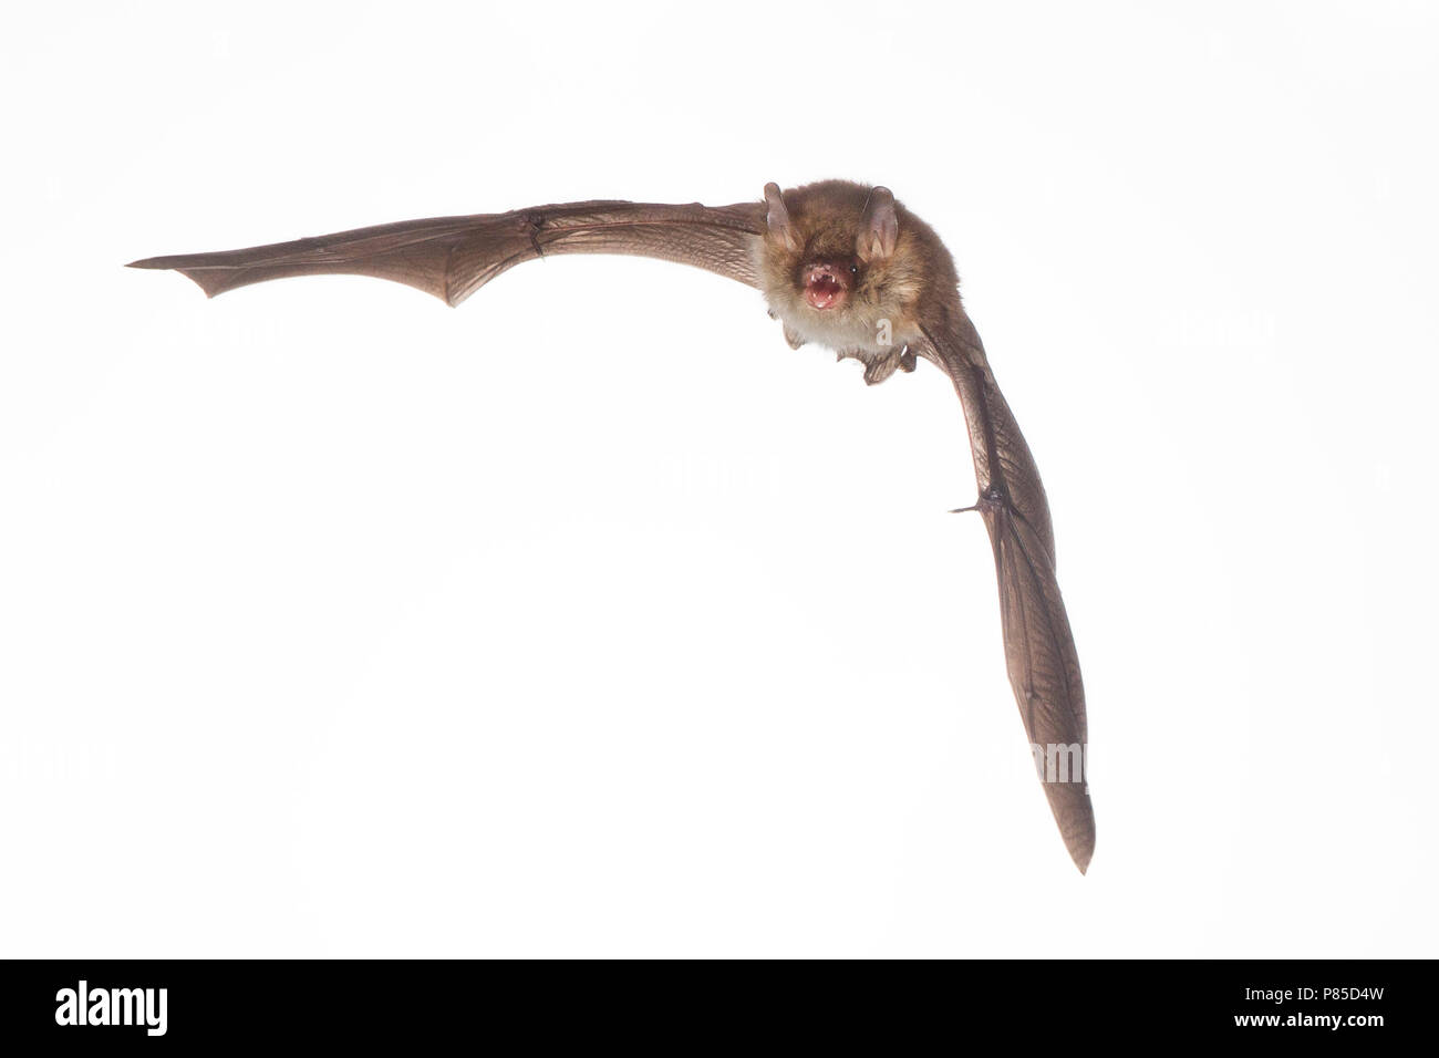
<svg viewBox="0 0 1439 1058"><path fill-rule="evenodd" d="M1433 956L1435 30L12 13L0 953ZM928 366L653 261L121 268L830 176L948 242L1043 471L1086 878Z"/></svg>

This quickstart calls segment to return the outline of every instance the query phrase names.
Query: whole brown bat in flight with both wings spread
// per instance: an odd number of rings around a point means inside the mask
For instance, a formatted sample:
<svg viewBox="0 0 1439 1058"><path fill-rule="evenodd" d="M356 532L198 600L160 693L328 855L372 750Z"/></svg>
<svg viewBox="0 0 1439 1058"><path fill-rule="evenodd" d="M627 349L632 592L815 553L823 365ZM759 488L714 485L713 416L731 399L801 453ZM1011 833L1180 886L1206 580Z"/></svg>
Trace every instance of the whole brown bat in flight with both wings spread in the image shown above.
<svg viewBox="0 0 1439 1058"><path fill-rule="evenodd" d="M1084 685L1055 580L1049 504L1035 459L960 302L954 259L885 187L826 180L763 203L709 207L580 202L407 220L223 253L137 261L173 268L210 297L292 275L370 275L458 305L505 269L554 253L633 253L757 286L784 337L865 366L865 381L917 357L960 394L977 510L994 546L1009 681L1059 832L1079 871L1094 854ZM1072 766L1072 770L1066 766Z"/></svg>

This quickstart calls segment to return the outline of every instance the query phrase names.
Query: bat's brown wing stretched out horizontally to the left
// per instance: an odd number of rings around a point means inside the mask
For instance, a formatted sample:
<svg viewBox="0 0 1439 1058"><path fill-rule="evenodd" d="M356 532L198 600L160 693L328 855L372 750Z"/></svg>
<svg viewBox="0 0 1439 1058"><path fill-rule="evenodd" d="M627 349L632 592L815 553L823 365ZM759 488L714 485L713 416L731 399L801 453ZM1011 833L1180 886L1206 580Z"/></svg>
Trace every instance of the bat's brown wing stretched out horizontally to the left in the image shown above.
<svg viewBox="0 0 1439 1058"><path fill-rule="evenodd" d="M458 305L514 265L551 253L630 253L755 285L763 203L711 207L576 202L511 213L404 220L271 246L135 261L173 268L216 294L294 275L370 275Z"/></svg>

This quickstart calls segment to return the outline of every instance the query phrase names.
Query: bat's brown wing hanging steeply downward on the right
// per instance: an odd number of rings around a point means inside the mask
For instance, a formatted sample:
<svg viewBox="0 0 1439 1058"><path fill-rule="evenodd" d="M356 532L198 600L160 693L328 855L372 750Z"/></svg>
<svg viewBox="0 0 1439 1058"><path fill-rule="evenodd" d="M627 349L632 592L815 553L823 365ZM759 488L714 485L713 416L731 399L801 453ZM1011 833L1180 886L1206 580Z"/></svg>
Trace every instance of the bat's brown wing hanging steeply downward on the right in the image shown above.
<svg viewBox="0 0 1439 1058"><path fill-rule="evenodd" d="M994 546L1004 658L1049 808L1079 871L1094 855L1094 808L1086 785L1088 723L1069 618L1055 579L1049 502L1035 458L1019 432L964 314L924 327L915 351L954 383L964 404L977 508Z"/></svg>

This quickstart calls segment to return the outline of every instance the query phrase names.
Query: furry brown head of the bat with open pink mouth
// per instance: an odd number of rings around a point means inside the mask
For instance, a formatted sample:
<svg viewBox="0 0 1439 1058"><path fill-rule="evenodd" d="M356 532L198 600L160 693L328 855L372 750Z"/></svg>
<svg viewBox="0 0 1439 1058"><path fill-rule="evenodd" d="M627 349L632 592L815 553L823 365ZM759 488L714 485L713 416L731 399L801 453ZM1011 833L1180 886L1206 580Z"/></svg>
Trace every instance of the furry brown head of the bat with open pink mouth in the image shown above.
<svg viewBox="0 0 1439 1058"><path fill-rule="evenodd" d="M793 333L835 350L876 350L881 335L894 341L912 322L922 266L889 189L767 184L764 199L760 284Z"/></svg>

